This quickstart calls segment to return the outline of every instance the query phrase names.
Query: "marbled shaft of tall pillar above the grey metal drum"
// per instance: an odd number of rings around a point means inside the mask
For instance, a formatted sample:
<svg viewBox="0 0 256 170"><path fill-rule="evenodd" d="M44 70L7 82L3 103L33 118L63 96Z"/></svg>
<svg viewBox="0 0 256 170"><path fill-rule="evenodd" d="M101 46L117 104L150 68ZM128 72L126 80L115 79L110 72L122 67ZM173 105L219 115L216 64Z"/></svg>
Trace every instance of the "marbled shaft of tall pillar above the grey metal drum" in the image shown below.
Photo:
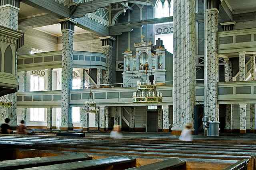
<svg viewBox="0 0 256 170"><path fill-rule="evenodd" d="M206 113L210 121L219 121L219 109L217 104L217 82L219 80L219 58L217 54L218 10L207 10L207 89L206 89Z"/></svg>

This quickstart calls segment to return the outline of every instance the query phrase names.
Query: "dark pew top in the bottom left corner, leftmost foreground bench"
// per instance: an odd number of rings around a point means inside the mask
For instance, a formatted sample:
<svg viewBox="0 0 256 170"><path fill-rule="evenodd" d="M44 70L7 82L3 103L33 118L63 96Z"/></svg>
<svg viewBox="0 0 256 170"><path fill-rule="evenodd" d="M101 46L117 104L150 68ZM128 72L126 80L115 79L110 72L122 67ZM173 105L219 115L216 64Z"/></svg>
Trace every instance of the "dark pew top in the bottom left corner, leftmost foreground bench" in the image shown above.
<svg viewBox="0 0 256 170"><path fill-rule="evenodd" d="M36 158L24 158L14 160L0 161L0 170L16 170L22 168L32 168L36 166L45 166L53 164L61 164L66 162L76 162L82 160L91 160L92 156L85 153L67 154L59 156L46 156Z"/></svg>

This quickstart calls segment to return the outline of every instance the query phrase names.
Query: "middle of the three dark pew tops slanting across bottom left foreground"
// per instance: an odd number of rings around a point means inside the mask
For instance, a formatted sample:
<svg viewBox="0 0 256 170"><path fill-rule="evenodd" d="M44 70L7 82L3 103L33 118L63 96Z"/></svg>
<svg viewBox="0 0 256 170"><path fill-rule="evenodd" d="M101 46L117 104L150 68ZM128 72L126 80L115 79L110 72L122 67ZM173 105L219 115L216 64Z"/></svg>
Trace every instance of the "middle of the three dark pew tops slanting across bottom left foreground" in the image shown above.
<svg viewBox="0 0 256 170"><path fill-rule="evenodd" d="M22 170L91 170L91 169L100 169L103 170L107 167L110 167L112 169L126 169L130 167L134 167L136 164L136 159L132 158L128 155L122 155L122 156L114 156L109 158L103 158L103 159L95 159L95 160L86 160L86 161L80 161L80 162L71 162L71 163L65 163L65 164L56 164L56 165L50 165L50 166L40 166L40 167L34 167L34 168L26 168Z"/></svg>

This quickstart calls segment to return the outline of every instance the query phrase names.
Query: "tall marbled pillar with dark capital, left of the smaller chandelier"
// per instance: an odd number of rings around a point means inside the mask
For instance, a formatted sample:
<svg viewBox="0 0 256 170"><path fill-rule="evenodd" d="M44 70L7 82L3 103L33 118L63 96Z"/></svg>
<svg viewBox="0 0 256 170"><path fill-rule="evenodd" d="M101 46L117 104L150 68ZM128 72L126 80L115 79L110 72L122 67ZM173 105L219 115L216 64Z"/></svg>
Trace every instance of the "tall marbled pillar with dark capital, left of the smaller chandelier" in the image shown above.
<svg viewBox="0 0 256 170"><path fill-rule="evenodd" d="M72 111L69 106L73 73L73 34L76 22L70 18L59 20L62 32L62 88L61 88L61 125L60 129L73 129Z"/></svg>

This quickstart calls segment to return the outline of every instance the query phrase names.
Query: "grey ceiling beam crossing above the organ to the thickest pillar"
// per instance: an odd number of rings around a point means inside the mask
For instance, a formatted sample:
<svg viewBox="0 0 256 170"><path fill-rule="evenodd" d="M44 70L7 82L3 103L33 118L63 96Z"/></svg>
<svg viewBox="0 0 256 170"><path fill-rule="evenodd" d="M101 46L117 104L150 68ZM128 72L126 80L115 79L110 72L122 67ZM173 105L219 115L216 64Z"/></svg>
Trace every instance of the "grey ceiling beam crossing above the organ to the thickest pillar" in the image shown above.
<svg viewBox="0 0 256 170"><path fill-rule="evenodd" d="M149 20L141 20L131 23L118 23L113 26L110 26L110 35L120 35L122 32L132 31L133 28L141 27L142 25L156 24L156 23L165 23L172 22L173 17L165 18L153 18Z"/></svg>

